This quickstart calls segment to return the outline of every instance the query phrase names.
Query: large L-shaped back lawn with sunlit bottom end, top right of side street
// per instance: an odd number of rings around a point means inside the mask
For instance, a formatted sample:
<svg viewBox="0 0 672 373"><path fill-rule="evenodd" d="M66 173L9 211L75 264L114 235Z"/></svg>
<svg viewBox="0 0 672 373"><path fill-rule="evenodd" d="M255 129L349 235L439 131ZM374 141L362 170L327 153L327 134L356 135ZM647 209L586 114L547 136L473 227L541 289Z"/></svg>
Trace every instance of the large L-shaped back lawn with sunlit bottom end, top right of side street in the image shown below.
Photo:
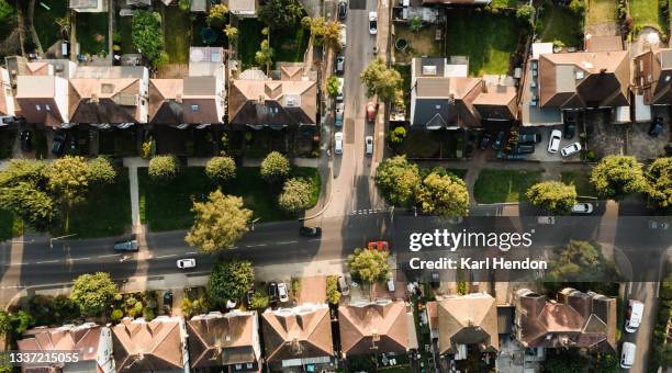
<svg viewBox="0 0 672 373"><path fill-rule="evenodd" d="M447 18L447 55L468 56L471 76L508 72L520 33L514 16L451 10Z"/></svg>

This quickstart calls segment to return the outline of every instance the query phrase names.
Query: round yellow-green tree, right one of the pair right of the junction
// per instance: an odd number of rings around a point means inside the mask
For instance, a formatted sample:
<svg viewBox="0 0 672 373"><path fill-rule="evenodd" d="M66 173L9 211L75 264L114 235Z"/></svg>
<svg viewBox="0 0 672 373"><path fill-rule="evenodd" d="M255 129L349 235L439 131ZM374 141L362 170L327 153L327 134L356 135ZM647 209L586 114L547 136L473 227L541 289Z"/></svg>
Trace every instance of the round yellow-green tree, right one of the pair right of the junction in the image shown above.
<svg viewBox="0 0 672 373"><path fill-rule="evenodd" d="M417 200L423 212L447 217L464 216L469 191L462 179L452 174L429 173L421 184Z"/></svg>

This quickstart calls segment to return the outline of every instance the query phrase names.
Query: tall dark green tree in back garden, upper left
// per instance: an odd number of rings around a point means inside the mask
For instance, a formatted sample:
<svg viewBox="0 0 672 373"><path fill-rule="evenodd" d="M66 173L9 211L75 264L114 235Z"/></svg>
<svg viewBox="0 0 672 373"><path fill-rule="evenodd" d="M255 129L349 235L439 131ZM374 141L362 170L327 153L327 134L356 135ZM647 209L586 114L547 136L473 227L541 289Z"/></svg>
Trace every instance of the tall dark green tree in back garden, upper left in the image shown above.
<svg viewBox="0 0 672 373"><path fill-rule="evenodd" d="M135 11L131 26L131 38L137 50L150 63L154 64L155 60L159 60L165 48L161 15L146 10Z"/></svg>

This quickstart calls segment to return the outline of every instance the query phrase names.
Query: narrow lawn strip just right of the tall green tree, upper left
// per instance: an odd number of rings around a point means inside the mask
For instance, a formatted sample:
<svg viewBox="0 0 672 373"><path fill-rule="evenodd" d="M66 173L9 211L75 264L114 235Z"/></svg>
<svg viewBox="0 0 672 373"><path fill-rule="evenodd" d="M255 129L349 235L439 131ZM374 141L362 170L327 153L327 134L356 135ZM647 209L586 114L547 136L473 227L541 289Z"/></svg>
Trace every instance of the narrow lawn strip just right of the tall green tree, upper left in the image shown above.
<svg viewBox="0 0 672 373"><path fill-rule="evenodd" d="M180 7L164 7L164 39L170 64L189 61L191 19Z"/></svg>

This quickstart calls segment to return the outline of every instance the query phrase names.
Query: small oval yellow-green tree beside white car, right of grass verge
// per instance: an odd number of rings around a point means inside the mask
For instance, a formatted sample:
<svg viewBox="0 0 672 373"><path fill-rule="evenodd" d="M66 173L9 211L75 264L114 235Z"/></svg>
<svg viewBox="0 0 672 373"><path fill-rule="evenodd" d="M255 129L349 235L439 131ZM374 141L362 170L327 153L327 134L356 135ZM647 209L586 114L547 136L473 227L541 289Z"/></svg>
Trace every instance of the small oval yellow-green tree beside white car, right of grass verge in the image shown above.
<svg viewBox="0 0 672 373"><path fill-rule="evenodd" d="M576 204L576 188L559 181L536 183L526 195L531 204L555 215L567 215Z"/></svg>

